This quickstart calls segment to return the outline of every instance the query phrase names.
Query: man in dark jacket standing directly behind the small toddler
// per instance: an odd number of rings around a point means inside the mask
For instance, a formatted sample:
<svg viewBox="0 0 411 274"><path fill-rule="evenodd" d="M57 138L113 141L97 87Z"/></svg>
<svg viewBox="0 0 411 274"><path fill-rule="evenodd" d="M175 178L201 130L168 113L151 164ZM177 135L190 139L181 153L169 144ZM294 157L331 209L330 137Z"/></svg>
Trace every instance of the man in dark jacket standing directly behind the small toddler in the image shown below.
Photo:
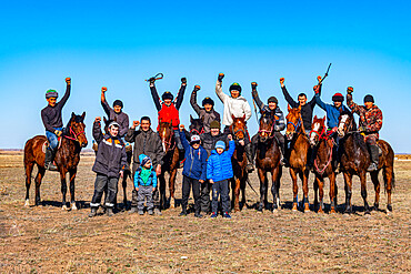
<svg viewBox="0 0 411 274"><path fill-rule="evenodd" d="M139 124L140 129L136 130ZM157 175L161 173L161 165L163 164L162 159L164 158L166 153L163 151L159 134L154 132L150 126L150 118L143 116L141 118L141 122L133 121L132 126L126 134L126 141L134 143L132 177L134 177L136 170L140 166L140 154L146 154L151 159L151 164L156 170ZM137 212L137 197L138 193L136 189L133 189L131 200L131 213ZM153 201L154 213L160 215L159 185L157 185L157 190L153 192Z"/></svg>

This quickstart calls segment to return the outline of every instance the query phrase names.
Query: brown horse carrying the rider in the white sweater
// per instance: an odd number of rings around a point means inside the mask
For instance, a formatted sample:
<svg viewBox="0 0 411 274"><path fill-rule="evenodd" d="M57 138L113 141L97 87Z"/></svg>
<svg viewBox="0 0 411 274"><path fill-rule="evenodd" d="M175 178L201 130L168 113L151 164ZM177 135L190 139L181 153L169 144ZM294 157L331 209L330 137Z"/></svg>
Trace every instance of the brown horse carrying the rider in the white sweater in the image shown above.
<svg viewBox="0 0 411 274"><path fill-rule="evenodd" d="M245 115L242 118L235 118L232 115L232 124L230 125L230 132L233 135L233 139L243 140L247 134L247 122ZM245 204L245 182L248 180L247 173L247 156L245 150L243 145L235 145L234 154L231 159L232 162L232 171L234 176L231 179L231 189L232 189L232 201L231 206L234 209L235 212L240 211L240 190L242 192L241 203Z"/></svg>

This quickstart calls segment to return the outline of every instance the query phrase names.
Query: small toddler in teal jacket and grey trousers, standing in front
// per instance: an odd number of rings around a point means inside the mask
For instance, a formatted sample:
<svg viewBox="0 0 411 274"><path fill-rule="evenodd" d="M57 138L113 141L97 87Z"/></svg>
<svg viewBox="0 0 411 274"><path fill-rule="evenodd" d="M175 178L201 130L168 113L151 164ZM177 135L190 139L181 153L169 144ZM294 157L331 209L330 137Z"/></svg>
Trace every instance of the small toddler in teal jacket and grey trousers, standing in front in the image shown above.
<svg viewBox="0 0 411 274"><path fill-rule="evenodd" d="M147 200L147 211L149 215L153 214L153 200L152 193L156 191L157 186L157 174L152 169L151 159L148 155L139 155L140 166L137 169L134 174L134 187L139 193L137 196L137 210L140 215L144 212L144 202Z"/></svg>

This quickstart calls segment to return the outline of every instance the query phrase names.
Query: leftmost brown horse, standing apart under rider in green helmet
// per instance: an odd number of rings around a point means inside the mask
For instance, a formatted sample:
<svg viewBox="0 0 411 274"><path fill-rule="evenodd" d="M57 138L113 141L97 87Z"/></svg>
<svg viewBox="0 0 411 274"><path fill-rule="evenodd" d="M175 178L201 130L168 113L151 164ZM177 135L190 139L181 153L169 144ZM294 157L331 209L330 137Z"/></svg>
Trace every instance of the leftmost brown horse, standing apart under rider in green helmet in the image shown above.
<svg viewBox="0 0 411 274"><path fill-rule="evenodd" d="M67 182L66 173L70 173L70 196L71 209L77 210L74 201L74 179L77 174L77 165L80 161L80 152L82 148L87 146L86 112L82 115L71 113L71 119L66 128L66 132L61 138L61 144L56 153L56 164L60 172L61 179L61 193L62 193L62 209L66 206ZM36 175L36 205L40 204L40 184L44 176L44 152L43 148L47 145L47 138L37 135L26 142L24 145L24 170L26 170L26 206L29 206L29 190L31 184L31 173L34 164L37 164L38 173Z"/></svg>

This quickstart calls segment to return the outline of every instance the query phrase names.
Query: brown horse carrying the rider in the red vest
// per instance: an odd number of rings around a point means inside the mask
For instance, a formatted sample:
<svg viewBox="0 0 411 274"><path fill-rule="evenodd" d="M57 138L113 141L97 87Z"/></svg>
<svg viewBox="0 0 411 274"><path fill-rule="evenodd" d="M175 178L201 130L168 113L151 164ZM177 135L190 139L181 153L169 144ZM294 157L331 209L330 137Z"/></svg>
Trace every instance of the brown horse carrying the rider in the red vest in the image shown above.
<svg viewBox="0 0 411 274"><path fill-rule="evenodd" d="M183 134L183 133L181 133ZM169 173L169 191L170 191L170 207L174 207L174 186L176 186L176 175L177 169L179 168L180 152L177 148L177 142L174 140L174 131L172 129L172 123L161 122L159 125L159 135L162 142L162 148L166 152L163 160L163 165L161 166L160 180L160 206L166 209L166 172Z"/></svg>

